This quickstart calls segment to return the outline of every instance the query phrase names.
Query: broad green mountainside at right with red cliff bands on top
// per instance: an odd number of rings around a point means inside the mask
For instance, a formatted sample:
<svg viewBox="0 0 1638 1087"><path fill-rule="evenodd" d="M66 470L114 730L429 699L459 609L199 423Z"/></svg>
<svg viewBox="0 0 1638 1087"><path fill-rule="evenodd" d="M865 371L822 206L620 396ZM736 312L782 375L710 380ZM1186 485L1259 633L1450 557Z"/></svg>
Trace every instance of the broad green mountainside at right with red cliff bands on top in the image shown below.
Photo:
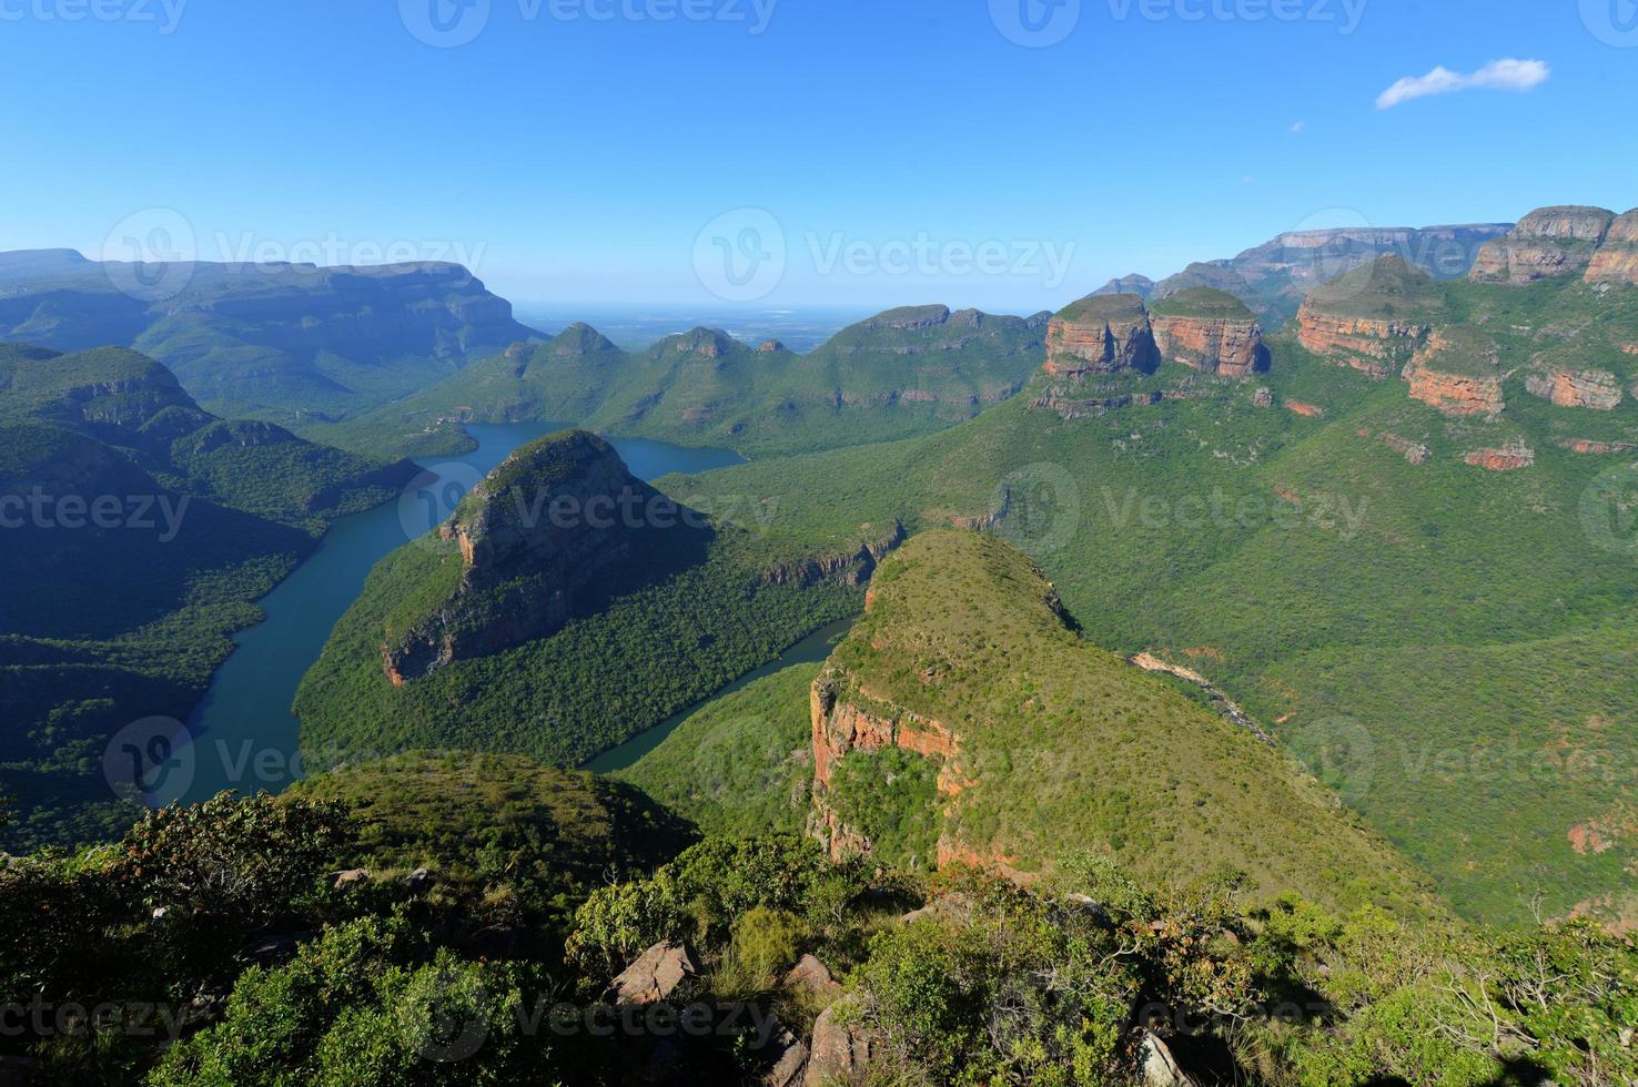
<svg viewBox="0 0 1638 1087"><path fill-rule="evenodd" d="M1091 643L1225 691L1463 912L1631 918L1638 794L1607 768L1635 756L1635 345L1628 283L1389 259L1310 298L1266 373L1076 363L693 489L781 496L791 540L988 527Z"/></svg>

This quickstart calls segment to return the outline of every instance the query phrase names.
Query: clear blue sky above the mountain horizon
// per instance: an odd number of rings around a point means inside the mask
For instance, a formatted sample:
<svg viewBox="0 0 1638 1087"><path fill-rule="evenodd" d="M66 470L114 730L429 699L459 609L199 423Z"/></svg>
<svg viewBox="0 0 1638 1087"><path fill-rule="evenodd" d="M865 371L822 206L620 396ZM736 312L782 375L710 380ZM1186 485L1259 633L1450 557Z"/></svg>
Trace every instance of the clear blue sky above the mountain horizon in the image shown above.
<svg viewBox="0 0 1638 1087"><path fill-rule="evenodd" d="M1633 0L1066 0L1042 47L1024 2L0 0L0 249L157 221L519 303L1034 311L1304 226L1638 203ZM1378 106L1500 59L1550 75Z"/></svg>

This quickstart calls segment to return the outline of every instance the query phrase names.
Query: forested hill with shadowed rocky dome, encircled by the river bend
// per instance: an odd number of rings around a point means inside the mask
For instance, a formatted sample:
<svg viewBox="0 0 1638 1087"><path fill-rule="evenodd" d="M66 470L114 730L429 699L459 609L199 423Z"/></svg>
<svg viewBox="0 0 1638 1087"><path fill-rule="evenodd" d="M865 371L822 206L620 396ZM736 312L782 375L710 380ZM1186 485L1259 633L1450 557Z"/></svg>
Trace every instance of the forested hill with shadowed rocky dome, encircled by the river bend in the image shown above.
<svg viewBox="0 0 1638 1087"><path fill-rule="evenodd" d="M308 763L406 746L583 763L857 612L901 539L891 521L834 540L734 527L678 498L690 486L655 491L578 431L514 452L336 624L296 696Z"/></svg>

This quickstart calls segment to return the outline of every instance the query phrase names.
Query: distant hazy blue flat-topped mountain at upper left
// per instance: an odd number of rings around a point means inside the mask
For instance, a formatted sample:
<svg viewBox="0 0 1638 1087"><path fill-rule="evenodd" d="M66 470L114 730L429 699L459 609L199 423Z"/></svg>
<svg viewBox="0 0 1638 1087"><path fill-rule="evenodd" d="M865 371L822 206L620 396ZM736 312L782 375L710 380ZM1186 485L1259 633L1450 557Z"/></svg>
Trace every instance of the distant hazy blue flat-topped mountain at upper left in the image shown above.
<svg viewBox="0 0 1638 1087"><path fill-rule="evenodd" d="M118 264L0 254L0 341L134 347L210 411L321 424L536 334L452 264Z"/></svg>

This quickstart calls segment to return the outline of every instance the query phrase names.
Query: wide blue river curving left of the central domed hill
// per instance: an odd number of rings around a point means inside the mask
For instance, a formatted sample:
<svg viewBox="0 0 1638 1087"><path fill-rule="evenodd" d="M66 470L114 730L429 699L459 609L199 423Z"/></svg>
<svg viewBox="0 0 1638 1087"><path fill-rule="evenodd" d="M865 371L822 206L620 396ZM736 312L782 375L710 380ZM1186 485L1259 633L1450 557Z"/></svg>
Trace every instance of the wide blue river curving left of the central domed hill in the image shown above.
<svg viewBox="0 0 1638 1087"><path fill-rule="evenodd" d="M478 442L475 450L423 463L428 471L400 501L331 525L308 560L259 601L267 619L234 635L233 656L216 670L188 719L192 783L183 799L205 801L223 789L277 792L301 778L298 722L290 704L370 570L388 552L436 527L511 450L559 429L562 424L549 422L468 426ZM742 463L737 453L721 449L621 439L611 444L642 480Z"/></svg>

